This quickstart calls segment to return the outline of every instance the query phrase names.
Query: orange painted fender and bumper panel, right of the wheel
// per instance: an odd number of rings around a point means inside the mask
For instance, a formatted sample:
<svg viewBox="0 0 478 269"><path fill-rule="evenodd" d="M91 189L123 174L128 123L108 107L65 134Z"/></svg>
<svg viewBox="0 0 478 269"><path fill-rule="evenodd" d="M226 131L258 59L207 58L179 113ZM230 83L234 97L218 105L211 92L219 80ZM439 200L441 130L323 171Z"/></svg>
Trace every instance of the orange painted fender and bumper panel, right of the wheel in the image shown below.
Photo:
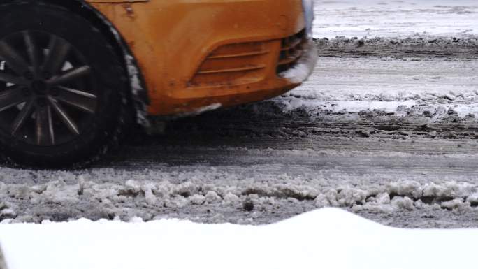
<svg viewBox="0 0 478 269"><path fill-rule="evenodd" d="M88 2L110 20L138 61L150 98L150 115L259 101L298 85L280 78L276 68L281 38L305 28L300 0ZM245 66L256 69L231 79L226 73L214 73L224 65L244 61L215 57L219 50L231 54L236 47L230 44L238 43L263 51L252 65ZM236 52L247 52L241 50ZM254 61L258 61L256 67Z"/></svg>

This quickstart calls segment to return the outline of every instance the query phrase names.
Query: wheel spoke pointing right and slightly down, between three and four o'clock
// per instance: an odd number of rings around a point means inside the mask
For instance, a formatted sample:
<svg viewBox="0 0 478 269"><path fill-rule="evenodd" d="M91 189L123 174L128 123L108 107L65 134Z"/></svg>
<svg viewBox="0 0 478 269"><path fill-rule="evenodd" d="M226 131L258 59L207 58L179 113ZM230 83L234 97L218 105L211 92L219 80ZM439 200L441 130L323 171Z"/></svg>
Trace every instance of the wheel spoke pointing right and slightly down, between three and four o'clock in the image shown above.
<svg viewBox="0 0 478 269"><path fill-rule="evenodd" d="M70 106L84 110L85 112L94 113L96 110L96 95L87 92L78 91L78 89L70 89L59 86L59 94L55 98L63 101Z"/></svg>

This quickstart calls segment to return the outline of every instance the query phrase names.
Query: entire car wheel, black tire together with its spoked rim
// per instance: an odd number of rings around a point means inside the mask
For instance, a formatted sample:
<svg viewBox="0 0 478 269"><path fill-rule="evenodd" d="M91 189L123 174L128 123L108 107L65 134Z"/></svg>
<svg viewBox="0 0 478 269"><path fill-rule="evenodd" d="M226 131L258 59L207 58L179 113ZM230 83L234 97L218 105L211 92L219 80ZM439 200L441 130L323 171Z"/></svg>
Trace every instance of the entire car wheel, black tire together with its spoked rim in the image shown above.
<svg viewBox="0 0 478 269"><path fill-rule="evenodd" d="M2 4L0 59L0 150L8 160L78 168L118 144L131 120L126 71L85 18L42 1ZM6 108L19 88L28 101Z"/></svg>

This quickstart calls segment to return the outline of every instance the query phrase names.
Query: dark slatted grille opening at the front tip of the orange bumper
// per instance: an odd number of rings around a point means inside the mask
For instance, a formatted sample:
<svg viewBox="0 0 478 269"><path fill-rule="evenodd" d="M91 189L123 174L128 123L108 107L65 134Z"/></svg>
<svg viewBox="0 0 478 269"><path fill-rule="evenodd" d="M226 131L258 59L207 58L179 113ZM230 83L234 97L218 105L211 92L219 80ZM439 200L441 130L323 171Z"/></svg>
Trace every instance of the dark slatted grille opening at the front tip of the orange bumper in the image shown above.
<svg viewBox="0 0 478 269"><path fill-rule="evenodd" d="M282 38L277 62L277 74L280 74L297 64L298 59L303 55L303 45L307 42L305 29L294 36Z"/></svg>

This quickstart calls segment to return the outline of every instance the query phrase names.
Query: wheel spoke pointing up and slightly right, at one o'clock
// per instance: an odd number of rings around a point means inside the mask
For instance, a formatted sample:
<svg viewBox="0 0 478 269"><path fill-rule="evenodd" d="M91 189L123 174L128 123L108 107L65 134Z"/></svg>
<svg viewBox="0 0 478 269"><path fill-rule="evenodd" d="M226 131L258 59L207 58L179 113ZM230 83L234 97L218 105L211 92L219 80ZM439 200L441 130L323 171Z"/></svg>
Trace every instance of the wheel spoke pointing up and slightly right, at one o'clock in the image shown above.
<svg viewBox="0 0 478 269"><path fill-rule="evenodd" d="M55 74L58 73L66 61L66 55L70 51L70 45L57 36L52 36L48 48L48 55L43 63L43 71Z"/></svg>

